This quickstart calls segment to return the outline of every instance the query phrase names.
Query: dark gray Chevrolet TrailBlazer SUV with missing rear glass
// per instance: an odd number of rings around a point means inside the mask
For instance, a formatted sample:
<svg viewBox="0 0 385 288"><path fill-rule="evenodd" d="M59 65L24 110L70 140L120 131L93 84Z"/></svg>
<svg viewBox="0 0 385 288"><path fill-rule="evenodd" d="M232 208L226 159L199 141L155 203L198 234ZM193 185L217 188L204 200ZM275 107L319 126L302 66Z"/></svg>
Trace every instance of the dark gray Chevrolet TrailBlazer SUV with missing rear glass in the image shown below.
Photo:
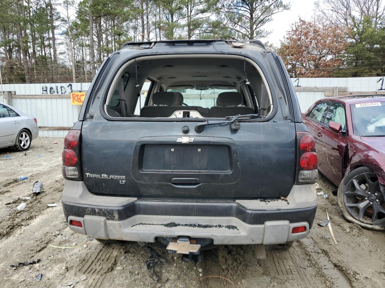
<svg viewBox="0 0 385 288"><path fill-rule="evenodd" d="M260 41L125 43L64 143L67 223L102 242L188 260L223 244L289 246L315 217L315 142Z"/></svg>

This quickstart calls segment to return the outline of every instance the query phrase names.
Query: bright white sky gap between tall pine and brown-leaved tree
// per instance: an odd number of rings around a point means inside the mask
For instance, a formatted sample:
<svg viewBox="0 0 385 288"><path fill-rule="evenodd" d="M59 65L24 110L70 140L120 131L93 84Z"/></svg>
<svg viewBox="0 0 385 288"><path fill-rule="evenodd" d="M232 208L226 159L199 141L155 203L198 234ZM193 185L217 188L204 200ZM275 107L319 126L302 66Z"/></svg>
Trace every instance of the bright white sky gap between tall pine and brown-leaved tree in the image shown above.
<svg viewBox="0 0 385 288"><path fill-rule="evenodd" d="M278 45L286 31L290 29L291 23L298 21L299 17L305 20L311 18L316 0L283 0L283 2L290 3L291 9L275 14L273 21L264 26L266 30L273 32L267 38L261 39L262 42L269 41L273 45Z"/></svg>

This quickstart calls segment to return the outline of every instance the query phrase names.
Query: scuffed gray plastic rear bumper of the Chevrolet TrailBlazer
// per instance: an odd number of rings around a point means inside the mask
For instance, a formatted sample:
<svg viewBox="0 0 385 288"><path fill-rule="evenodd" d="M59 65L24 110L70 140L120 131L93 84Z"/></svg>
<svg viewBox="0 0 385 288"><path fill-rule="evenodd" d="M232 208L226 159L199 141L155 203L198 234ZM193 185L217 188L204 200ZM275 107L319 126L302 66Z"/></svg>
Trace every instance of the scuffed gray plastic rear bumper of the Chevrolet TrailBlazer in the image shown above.
<svg viewBox="0 0 385 288"><path fill-rule="evenodd" d="M317 207L313 186L294 185L288 201L182 201L97 196L84 182L65 180L62 203L69 227L90 237L154 242L156 237L183 235L211 238L218 245L268 245L308 235ZM164 226L170 222L179 225ZM291 233L298 226L306 230Z"/></svg>

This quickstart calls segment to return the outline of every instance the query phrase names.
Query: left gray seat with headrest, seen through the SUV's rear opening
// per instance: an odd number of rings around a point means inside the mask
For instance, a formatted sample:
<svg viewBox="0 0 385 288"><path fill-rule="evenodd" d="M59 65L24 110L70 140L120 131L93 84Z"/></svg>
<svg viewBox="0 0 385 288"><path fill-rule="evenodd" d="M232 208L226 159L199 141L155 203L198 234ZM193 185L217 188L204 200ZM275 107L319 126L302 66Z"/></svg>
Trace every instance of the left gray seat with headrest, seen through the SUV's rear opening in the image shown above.
<svg viewBox="0 0 385 288"><path fill-rule="evenodd" d="M179 95L180 94L180 95ZM144 106L141 109L141 117L169 117L183 104L181 93L159 91L152 94L154 105Z"/></svg>

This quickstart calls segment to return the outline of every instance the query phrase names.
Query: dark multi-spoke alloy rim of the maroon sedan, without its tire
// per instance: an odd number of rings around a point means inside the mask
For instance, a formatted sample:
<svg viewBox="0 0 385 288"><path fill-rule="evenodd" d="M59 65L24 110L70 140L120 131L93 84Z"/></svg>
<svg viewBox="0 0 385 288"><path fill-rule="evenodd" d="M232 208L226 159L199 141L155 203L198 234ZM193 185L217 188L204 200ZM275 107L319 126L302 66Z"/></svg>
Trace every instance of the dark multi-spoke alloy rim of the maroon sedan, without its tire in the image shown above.
<svg viewBox="0 0 385 288"><path fill-rule="evenodd" d="M353 177L345 187L345 207L354 218L368 224L385 222L385 190L373 172Z"/></svg>

